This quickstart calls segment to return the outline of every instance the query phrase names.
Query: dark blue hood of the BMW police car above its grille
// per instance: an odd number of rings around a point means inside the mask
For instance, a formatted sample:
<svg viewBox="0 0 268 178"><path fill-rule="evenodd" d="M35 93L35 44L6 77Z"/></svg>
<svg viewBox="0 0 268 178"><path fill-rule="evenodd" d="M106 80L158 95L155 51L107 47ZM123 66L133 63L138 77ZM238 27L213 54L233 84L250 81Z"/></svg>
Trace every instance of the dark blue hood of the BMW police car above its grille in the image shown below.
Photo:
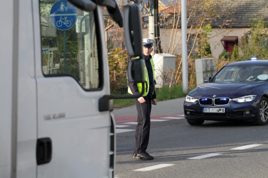
<svg viewBox="0 0 268 178"><path fill-rule="evenodd" d="M233 95L246 96L254 94L253 92L267 86L267 82L208 82L196 87L189 93L190 96L204 95Z"/></svg>

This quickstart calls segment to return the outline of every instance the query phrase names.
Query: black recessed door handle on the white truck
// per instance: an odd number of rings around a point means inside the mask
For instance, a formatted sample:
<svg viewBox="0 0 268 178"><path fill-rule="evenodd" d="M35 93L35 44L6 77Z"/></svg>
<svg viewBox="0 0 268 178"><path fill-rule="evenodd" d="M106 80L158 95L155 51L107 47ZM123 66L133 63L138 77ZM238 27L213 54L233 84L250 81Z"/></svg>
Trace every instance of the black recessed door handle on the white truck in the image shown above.
<svg viewBox="0 0 268 178"><path fill-rule="evenodd" d="M37 165L49 163L52 157L52 141L50 138L37 139L36 162Z"/></svg>

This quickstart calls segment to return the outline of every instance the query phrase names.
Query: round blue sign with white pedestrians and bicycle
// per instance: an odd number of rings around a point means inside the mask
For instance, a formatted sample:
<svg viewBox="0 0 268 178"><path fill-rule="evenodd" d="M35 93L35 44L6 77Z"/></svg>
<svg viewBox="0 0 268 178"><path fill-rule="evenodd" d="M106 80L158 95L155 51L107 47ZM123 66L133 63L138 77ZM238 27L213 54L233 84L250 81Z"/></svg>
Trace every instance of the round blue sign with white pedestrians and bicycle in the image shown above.
<svg viewBox="0 0 268 178"><path fill-rule="evenodd" d="M50 20L59 30L72 28L77 19L77 11L74 5L67 0L59 0L50 9Z"/></svg>

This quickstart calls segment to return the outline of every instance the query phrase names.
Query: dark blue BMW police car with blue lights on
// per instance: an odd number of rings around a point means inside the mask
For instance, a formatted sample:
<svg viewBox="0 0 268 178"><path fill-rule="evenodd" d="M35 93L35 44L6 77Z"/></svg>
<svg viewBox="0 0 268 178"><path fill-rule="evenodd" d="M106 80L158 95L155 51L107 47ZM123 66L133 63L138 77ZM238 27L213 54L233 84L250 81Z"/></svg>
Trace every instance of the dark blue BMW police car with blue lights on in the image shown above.
<svg viewBox="0 0 268 178"><path fill-rule="evenodd" d="M232 62L189 92L184 115L190 125L205 120L268 123L268 60Z"/></svg>

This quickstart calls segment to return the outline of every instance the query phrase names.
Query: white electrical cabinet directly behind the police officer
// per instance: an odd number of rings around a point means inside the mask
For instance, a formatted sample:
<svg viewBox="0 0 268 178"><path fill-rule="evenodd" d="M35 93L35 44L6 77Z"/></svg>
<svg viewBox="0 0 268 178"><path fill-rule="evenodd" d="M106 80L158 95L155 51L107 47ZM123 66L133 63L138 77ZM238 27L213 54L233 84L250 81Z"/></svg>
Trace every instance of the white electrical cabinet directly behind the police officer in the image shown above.
<svg viewBox="0 0 268 178"><path fill-rule="evenodd" d="M154 74L156 81L156 88L162 88L165 85L173 84L175 78L176 56L166 53L156 53L153 56L154 60ZM173 77L173 81L172 81Z"/></svg>

